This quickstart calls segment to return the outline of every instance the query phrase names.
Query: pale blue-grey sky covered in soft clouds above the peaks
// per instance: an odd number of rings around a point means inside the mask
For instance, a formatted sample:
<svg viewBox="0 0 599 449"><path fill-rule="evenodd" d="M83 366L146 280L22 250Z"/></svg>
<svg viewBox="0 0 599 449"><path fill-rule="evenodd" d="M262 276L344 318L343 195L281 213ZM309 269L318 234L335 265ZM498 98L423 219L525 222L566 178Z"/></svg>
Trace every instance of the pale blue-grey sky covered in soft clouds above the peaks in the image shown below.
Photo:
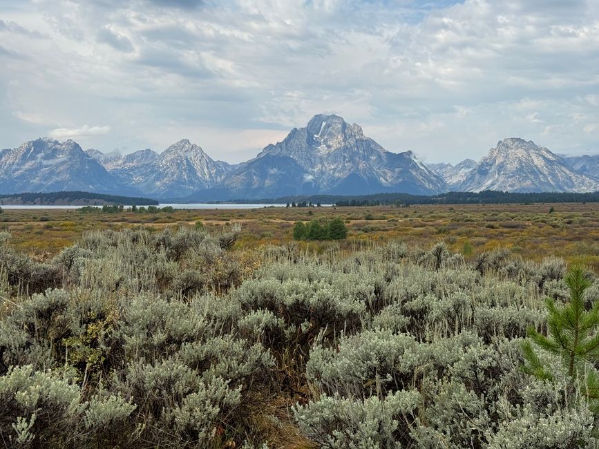
<svg viewBox="0 0 599 449"><path fill-rule="evenodd" d="M0 148L239 162L336 113L390 151L599 153L596 0L4 0Z"/></svg>

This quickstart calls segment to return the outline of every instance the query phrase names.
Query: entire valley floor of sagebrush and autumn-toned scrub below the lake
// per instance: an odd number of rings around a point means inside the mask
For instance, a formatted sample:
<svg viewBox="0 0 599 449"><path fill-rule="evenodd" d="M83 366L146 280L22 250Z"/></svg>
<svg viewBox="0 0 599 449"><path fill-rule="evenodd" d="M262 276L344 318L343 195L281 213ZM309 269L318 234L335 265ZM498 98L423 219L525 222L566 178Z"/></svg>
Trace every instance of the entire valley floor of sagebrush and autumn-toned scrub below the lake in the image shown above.
<svg viewBox="0 0 599 449"><path fill-rule="evenodd" d="M596 204L0 220L5 446L599 447Z"/></svg>

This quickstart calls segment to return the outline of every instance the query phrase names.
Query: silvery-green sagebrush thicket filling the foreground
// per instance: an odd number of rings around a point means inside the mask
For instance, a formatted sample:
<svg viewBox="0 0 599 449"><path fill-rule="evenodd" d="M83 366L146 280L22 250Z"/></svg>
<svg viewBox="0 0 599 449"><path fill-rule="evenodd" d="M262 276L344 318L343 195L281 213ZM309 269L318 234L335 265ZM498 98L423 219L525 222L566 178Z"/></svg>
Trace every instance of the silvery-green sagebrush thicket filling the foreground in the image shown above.
<svg viewBox="0 0 599 449"><path fill-rule="evenodd" d="M567 298L560 260L495 251L466 265L399 243L240 252L235 238L91 233L48 263L1 243L3 441L597 446L576 385L520 369L542 299Z"/></svg>

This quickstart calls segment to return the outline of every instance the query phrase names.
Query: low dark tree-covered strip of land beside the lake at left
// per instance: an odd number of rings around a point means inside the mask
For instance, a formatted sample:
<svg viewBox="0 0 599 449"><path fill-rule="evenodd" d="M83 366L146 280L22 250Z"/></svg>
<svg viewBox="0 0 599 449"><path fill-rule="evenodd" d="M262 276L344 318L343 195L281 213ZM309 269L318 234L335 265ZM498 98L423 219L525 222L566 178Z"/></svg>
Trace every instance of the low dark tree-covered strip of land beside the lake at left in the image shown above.
<svg viewBox="0 0 599 449"><path fill-rule="evenodd" d="M89 205L102 206L104 204L137 204L137 206L156 206L157 200L151 198L106 195L84 191L59 191L59 192L24 192L0 194L0 204L32 204L32 205Z"/></svg>

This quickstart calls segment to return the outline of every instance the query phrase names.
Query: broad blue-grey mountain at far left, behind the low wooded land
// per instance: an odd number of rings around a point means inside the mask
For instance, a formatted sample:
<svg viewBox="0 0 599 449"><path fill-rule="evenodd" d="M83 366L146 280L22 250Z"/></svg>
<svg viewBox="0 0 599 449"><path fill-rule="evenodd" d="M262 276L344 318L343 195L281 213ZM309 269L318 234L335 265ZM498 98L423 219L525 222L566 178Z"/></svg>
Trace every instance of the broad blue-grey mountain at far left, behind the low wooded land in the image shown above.
<svg viewBox="0 0 599 449"><path fill-rule="evenodd" d="M108 173L73 140L37 139L0 153L0 193L63 190L139 193Z"/></svg>

